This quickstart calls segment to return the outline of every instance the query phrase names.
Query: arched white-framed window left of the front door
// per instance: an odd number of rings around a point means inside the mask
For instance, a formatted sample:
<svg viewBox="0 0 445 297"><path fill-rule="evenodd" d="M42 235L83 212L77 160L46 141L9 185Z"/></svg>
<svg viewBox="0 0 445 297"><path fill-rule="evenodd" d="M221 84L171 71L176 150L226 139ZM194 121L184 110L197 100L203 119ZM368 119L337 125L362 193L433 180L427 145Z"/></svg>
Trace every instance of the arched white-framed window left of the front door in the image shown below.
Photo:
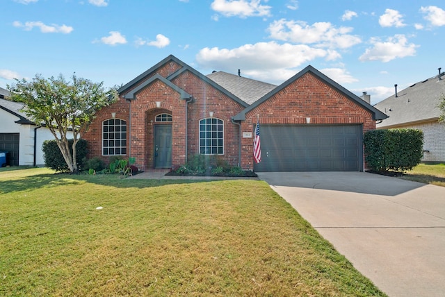
<svg viewBox="0 0 445 297"><path fill-rule="evenodd" d="M127 121L107 119L102 122L102 155L127 155Z"/></svg>

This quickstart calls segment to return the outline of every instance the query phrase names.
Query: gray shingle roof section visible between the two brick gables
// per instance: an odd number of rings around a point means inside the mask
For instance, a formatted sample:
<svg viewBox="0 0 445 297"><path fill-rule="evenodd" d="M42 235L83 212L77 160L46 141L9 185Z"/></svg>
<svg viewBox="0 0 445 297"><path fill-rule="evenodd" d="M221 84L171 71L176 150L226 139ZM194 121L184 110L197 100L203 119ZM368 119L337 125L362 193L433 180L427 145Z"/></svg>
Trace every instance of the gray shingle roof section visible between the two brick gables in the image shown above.
<svg viewBox="0 0 445 297"><path fill-rule="evenodd" d="M207 74L207 77L248 104L254 103L277 87L270 83L229 74L224 71Z"/></svg>

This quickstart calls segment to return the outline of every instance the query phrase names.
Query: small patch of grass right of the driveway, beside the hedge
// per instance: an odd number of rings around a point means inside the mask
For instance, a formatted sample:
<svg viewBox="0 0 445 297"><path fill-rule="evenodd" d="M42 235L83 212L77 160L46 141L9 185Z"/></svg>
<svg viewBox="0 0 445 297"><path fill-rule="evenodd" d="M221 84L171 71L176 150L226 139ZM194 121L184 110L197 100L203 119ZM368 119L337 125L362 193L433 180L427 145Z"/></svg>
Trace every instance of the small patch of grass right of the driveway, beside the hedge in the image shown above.
<svg viewBox="0 0 445 297"><path fill-rule="evenodd" d="M401 178L445 187L445 164L419 164Z"/></svg>

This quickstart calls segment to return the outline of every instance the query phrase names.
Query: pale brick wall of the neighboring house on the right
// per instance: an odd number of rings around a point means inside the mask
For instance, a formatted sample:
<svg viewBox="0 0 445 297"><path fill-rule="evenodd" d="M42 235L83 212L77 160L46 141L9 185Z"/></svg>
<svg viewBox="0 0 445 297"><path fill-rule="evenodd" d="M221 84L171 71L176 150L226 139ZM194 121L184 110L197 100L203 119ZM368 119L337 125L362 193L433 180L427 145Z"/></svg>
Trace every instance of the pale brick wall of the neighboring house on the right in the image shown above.
<svg viewBox="0 0 445 297"><path fill-rule="evenodd" d="M422 130L423 150L428 151L423 153L422 162L445 162L445 123L428 121L425 123L401 125L391 128Z"/></svg>

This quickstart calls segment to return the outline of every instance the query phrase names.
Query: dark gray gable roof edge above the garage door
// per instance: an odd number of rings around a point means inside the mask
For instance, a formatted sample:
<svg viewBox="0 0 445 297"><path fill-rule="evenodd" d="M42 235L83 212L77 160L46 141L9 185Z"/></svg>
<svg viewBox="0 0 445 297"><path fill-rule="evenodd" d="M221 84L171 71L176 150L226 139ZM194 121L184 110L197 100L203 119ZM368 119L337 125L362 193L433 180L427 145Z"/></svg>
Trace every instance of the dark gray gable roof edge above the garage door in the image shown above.
<svg viewBox="0 0 445 297"><path fill-rule="evenodd" d="M362 108L369 110L373 114L373 119L386 119L387 115L378 110L377 108L374 108L371 104L367 103L366 101L360 99L357 95L353 94L352 92L346 90L344 87L339 85L338 83L334 82L334 80L328 78L325 76L325 74L322 74L320 71L312 67L311 65L305 67L305 69L302 69L302 71L298 72L298 74L292 76L288 80L286 80L284 83L279 85L278 87L275 87L275 89L268 92L268 94L265 94L261 97L261 99L254 102L252 105L250 105L248 108L245 108L242 112L236 114L234 116L235 121L244 121L245 120L245 114L250 112L250 110L253 110L254 108L257 108L258 105L263 103L264 101L268 100L270 97L274 96L281 90L283 90L285 87L293 83L295 80L298 80L298 78L302 77L303 75L307 74L308 72L314 74L314 76L318 77L319 79L323 80L324 83L327 85L330 85L330 87L334 88L335 90L339 91L341 94L346 96L351 101L354 101L358 105L362 106Z"/></svg>

